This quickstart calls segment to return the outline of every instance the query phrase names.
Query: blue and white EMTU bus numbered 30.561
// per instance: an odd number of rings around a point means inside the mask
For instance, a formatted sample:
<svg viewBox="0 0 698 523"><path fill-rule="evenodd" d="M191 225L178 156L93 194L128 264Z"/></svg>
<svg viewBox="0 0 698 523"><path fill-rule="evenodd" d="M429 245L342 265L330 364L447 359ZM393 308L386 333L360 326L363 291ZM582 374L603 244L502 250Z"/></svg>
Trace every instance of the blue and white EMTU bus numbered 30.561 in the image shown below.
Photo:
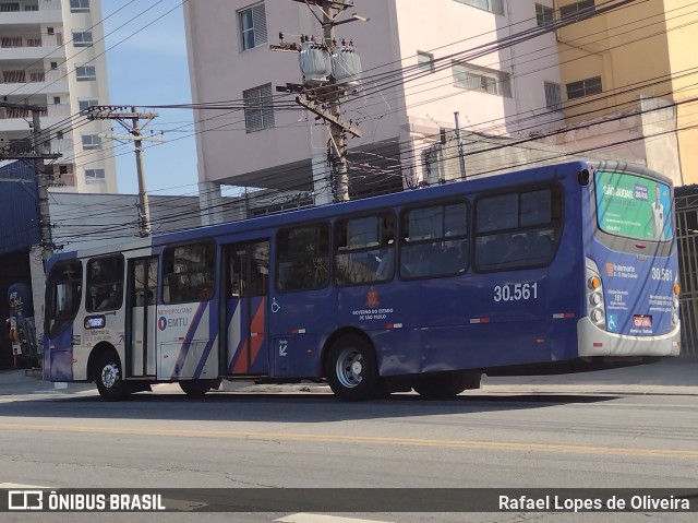
<svg viewBox="0 0 698 523"><path fill-rule="evenodd" d="M664 176L579 161L58 253L44 376L358 401L675 356L672 203Z"/></svg>

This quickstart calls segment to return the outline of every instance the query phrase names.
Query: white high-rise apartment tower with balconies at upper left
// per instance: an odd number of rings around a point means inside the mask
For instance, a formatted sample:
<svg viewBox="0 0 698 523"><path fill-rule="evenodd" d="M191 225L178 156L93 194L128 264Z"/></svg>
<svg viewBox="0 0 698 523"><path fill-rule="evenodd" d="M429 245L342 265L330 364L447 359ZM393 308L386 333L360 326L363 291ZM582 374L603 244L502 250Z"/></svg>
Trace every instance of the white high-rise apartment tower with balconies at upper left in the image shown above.
<svg viewBox="0 0 698 523"><path fill-rule="evenodd" d="M117 191L109 122L84 116L109 103L100 0L0 0L0 100L44 108L44 152L61 154L47 162L49 190ZM0 107L0 148L26 151L31 122Z"/></svg>

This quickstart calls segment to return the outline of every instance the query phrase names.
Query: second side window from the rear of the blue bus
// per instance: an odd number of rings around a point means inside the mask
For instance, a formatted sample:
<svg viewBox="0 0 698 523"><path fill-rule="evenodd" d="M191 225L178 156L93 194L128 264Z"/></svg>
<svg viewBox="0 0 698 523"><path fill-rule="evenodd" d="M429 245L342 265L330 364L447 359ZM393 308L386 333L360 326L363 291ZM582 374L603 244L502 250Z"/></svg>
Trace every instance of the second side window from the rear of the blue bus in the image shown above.
<svg viewBox="0 0 698 523"><path fill-rule="evenodd" d="M413 209L402 214L400 276L461 274L468 268L468 204Z"/></svg>

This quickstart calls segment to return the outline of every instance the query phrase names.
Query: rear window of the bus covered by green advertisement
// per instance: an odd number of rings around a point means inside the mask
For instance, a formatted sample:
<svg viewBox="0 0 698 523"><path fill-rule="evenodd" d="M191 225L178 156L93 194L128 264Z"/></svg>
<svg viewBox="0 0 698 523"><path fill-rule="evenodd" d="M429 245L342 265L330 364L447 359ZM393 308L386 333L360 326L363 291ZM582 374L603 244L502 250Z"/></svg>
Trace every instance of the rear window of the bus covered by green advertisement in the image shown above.
<svg viewBox="0 0 698 523"><path fill-rule="evenodd" d="M604 233L638 240L673 238L671 190L626 173L595 173L597 217Z"/></svg>

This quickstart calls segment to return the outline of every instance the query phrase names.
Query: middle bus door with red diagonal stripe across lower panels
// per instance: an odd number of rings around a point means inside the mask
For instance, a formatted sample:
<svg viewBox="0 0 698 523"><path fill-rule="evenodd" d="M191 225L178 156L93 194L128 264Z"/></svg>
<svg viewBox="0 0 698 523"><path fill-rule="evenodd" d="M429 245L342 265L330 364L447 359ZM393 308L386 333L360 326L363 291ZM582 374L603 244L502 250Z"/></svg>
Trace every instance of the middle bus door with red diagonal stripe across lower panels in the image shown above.
<svg viewBox="0 0 698 523"><path fill-rule="evenodd" d="M221 368L228 376L264 376L269 371L269 241L225 248L226 350Z"/></svg>

